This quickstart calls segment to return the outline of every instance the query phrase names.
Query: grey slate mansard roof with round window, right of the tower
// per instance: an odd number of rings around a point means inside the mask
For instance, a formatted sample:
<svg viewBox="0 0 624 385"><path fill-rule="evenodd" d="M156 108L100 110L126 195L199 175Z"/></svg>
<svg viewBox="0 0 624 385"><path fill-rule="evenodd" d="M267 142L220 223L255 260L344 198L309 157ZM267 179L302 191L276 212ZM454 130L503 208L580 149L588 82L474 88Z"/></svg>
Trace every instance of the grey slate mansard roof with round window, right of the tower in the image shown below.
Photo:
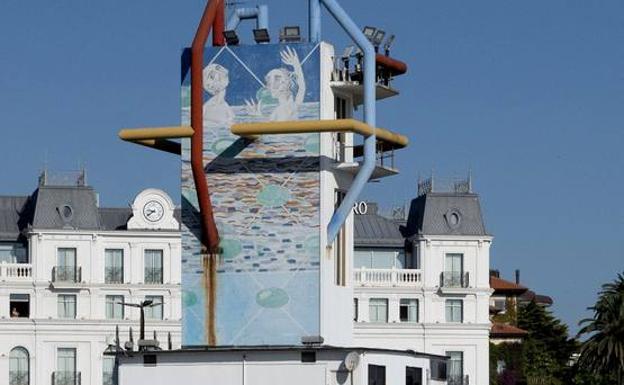
<svg viewBox="0 0 624 385"><path fill-rule="evenodd" d="M450 216L459 222L453 225ZM428 193L412 200L407 236L414 235L488 235L485 231L477 194Z"/></svg>

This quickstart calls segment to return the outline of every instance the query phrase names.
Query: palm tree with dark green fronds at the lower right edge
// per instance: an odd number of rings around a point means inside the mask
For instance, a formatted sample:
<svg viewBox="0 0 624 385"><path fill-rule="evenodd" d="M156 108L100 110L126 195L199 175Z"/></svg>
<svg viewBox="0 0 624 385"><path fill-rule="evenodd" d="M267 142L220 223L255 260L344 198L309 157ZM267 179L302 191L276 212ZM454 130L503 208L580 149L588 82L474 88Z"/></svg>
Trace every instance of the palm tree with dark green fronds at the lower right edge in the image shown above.
<svg viewBox="0 0 624 385"><path fill-rule="evenodd" d="M589 336L580 350L579 366L596 376L624 384L624 273L602 286L598 301L589 310L593 318L582 320L578 335Z"/></svg>

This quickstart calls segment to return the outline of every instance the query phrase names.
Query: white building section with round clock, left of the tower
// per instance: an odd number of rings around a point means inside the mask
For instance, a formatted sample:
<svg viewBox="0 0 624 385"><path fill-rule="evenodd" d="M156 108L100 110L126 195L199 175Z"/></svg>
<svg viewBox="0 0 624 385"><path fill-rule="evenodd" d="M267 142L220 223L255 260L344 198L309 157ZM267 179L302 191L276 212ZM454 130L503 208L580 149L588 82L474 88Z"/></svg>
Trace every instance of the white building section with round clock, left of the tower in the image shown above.
<svg viewBox="0 0 624 385"><path fill-rule="evenodd" d="M0 383L112 385L104 351L116 329L180 345L180 233L162 191L100 208L84 183L46 178L28 197L0 197ZM171 337L169 337L169 334ZM165 347L166 348L166 347Z"/></svg>

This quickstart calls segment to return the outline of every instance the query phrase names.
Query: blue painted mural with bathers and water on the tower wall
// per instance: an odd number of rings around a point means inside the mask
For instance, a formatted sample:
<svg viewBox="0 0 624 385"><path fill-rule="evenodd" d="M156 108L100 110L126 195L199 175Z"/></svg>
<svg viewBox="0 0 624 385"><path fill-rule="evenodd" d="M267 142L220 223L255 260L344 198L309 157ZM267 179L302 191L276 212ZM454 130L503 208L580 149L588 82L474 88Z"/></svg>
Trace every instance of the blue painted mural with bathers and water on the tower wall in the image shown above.
<svg viewBox="0 0 624 385"><path fill-rule="evenodd" d="M319 335L319 134L230 133L233 123L319 119L316 44L206 50L204 164L221 238L216 271L218 345L300 344ZM182 120L190 124L183 60ZM182 154L183 344L205 345L206 274L190 166Z"/></svg>

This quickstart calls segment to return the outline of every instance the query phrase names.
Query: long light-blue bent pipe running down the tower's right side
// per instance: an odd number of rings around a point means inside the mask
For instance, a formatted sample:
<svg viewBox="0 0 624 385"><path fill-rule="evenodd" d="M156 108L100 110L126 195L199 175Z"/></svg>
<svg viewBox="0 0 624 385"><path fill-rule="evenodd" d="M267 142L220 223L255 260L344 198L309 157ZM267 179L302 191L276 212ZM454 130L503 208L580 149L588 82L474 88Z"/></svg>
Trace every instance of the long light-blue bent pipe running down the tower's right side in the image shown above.
<svg viewBox="0 0 624 385"><path fill-rule="evenodd" d="M314 0L311 1L314 2ZM325 5L329 13L334 16L338 24L340 24L364 53L364 122L371 127L375 127L375 49L373 48L373 44L368 41L364 33L362 33L360 28L351 20L349 15L336 0L320 0L320 2ZM310 7L313 8L312 5L310 5ZM316 23L317 22L314 21L312 25ZM318 24L320 24L320 18ZM320 27L314 27L314 32L319 33ZM373 174L375 169L375 143L376 136L373 130L373 135L364 139L364 162L362 163L362 167L355 176L351 188L338 209L334 212L327 226L328 246L336 239L340 228L351 213L353 204L356 202L364 186Z"/></svg>

